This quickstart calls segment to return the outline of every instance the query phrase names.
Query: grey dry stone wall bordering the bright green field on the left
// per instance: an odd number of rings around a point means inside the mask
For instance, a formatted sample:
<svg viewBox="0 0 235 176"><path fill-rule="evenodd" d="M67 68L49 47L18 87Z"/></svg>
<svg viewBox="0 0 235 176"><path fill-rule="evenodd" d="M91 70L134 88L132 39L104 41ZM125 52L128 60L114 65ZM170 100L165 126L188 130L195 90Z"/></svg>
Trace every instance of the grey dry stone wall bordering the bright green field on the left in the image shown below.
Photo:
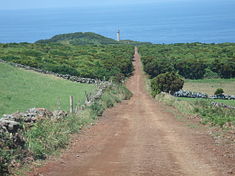
<svg viewBox="0 0 235 176"><path fill-rule="evenodd" d="M82 105L81 107L77 107L75 113L78 113L79 110L84 109L86 106L91 106L97 99L101 98L106 88L112 86L112 82L109 82L109 81L100 81L100 80L95 80L91 78L79 78L79 77L71 76L71 75L57 74L57 73L44 71L44 70L29 67L29 66L21 65L21 64L5 62L1 59L0 59L0 62L8 63L12 66L23 68L26 70L33 70L42 74L54 75L54 76L57 76L66 80L70 80L73 82L96 84L97 91L86 94L86 100L85 100L84 105ZM45 108L31 108L27 110L26 112L5 114L3 115L3 117L0 117L0 133L8 132L8 133L16 134L17 131L20 129L20 123L33 124L36 121L43 120L45 118L65 118L67 117L67 115L68 113L65 111L56 110L56 111L51 112Z"/></svg>

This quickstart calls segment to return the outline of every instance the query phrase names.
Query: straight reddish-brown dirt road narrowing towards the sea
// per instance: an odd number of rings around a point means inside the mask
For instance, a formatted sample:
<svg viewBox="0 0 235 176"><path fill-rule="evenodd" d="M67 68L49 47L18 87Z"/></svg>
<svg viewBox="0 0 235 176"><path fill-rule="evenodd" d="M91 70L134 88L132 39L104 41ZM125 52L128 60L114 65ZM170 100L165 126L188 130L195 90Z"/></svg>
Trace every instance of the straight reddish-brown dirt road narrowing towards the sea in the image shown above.
<svg viewBox="0 0 235 176"><path fill-rule="evenodd" d="M203 129L176 120L146 92L140 56L127 82L129 101L107 110L97 124L74 137L61 158L29 175L43 176L221 176L234 163ZM224 160L224 161L223 161ZM230 168L229 168L230 167Z"/></svg>

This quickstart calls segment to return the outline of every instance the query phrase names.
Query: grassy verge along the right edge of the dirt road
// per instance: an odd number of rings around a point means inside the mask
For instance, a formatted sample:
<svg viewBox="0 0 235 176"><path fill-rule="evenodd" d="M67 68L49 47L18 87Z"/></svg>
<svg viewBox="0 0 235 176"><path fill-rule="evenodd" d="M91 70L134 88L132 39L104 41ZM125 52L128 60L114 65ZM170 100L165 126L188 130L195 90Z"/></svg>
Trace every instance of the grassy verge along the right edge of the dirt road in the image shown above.
<svg viewBox="0 0 235 176"><path fill-rule="evenodd" d="M166 93L158 94L155 98L157 101L175 107L184 115L200 116L202 124L219 126L224 129L227 128L227 125L235 126L234 109L214 107L211 105L210 101L205 99L193 99L194 101L188 101Z"/></svg>

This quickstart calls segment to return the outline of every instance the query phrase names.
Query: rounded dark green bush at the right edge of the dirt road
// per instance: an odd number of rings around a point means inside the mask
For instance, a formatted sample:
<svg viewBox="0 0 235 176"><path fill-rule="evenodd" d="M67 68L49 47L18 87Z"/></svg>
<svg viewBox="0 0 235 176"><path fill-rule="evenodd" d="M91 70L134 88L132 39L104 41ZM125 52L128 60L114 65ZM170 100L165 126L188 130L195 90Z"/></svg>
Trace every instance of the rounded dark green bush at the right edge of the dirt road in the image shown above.
<svg viewBox="0 0 235 176"><path fill-rule="evenodd" d="M175 72L167 72L158 75L151 81L152 95L156 96L160 92L170 94L183 88L184 80Z"/></svg>

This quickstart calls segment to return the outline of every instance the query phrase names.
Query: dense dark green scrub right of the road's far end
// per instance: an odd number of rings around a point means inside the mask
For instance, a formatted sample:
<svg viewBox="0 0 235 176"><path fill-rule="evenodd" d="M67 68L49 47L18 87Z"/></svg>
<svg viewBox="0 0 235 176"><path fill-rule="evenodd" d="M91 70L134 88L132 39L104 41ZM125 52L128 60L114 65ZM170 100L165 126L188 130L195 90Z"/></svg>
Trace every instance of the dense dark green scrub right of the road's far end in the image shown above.
<svg viewBox="0 0 235 176"><path fill-rule="evenodd" d="M172 71L186 79L235 77L234 43L143 45L139 51L151 78Z"/></svg>

